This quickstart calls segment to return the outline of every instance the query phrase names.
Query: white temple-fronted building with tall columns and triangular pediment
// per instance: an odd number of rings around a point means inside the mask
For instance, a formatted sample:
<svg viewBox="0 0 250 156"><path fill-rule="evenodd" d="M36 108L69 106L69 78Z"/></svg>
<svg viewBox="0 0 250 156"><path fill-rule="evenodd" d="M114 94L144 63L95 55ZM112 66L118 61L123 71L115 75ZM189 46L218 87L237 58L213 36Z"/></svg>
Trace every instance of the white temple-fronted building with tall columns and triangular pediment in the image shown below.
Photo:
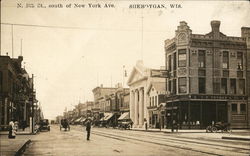
<svg viewBox="0 0 250 156"><path fill-rule="evenodd" d="M152 69L143 65L142 61L138 61L134 66L129 79L130 87L130 118L134 127L143 127L144 123L149 123L149 96L147 89L153 82L162 82L165 86L165 78L157 78L151 76ZM156 97L158 98L158 96ZM158 101L158 99L156 99Z"/></svg>

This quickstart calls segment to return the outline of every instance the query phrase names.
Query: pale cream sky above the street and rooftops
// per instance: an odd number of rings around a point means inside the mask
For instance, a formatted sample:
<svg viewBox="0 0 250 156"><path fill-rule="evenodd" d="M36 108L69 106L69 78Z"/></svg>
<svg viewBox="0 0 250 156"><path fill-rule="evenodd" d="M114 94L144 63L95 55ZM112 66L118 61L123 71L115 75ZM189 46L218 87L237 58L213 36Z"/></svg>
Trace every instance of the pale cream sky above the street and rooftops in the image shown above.
<svg viewBox="0 0 250 156"><path fill-rule="evenodd" d="M17 8L20 2L47 8ZM89 3L115 8L88 8ZM48 8L51 4L64 8ZM67 4L85 8L65 8ZM132 9L131 4L167 8ZM182 8L171 9L170 4ZM2 0L1 55L8 52L16 58L22 51L23 67L35 76L44 116L53 119L66 107L93 100L92 90L101 84L125 82L127 87L123 71L129 76L137 60L149 68L164 66L164 41L174 37L180 21L186 21L192 33L205 34L211 31L211 20L220 20L221 32L240 36L242 26L250 27L249 15L248 1ZM14 25L12 42L12 27L6 23L32 26Z"/></svg>

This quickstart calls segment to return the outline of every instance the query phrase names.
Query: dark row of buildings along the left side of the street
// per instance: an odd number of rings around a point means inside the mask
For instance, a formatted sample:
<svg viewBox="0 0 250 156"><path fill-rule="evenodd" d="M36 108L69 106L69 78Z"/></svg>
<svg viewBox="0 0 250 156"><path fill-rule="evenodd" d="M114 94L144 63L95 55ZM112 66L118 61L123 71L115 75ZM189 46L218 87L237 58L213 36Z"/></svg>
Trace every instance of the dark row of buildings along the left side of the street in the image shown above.
<svg viewBox="0 0 250 156"><path fill-rule="evenodd" d="M32 87L33 79L22 68L23 57L0 56L0 125L7 127L10 120L29 125L32 104L37 103ZM36 105L33 105L34 117ZM37 112L37 111L36 111ZM39 121L40 115L37 116Z"/></svg>

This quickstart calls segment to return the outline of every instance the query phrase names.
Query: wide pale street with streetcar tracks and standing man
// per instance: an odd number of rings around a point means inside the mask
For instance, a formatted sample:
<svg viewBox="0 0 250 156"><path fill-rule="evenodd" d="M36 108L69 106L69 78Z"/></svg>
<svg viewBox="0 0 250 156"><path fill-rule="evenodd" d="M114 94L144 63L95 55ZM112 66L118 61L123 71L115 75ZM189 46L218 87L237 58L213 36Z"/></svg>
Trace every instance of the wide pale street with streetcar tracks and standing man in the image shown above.
<svg viewBox="0 0 250 156"><path fill-rule="evenodd" d="M217 133L159 133L112 128L92 128L90 141L85 127L71 126L60 131L52 125L50 132L32 136L23 155L249 155L248 141L222 140Z"/></svg>

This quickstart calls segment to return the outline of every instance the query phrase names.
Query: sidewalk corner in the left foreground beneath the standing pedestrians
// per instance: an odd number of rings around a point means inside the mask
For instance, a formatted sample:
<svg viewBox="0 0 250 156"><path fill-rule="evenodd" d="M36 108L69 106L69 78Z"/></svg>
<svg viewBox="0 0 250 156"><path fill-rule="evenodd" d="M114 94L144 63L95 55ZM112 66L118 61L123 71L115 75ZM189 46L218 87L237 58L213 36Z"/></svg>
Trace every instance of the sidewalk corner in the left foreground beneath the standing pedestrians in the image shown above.
<svg viewBox="0 0 250 156"><path fill-rule="evenodd" d="M16 136L16 139L9 139L8 135L0 135L0 155L1 156L14 156L20 155L31 142L29 137Z"/></svg>

